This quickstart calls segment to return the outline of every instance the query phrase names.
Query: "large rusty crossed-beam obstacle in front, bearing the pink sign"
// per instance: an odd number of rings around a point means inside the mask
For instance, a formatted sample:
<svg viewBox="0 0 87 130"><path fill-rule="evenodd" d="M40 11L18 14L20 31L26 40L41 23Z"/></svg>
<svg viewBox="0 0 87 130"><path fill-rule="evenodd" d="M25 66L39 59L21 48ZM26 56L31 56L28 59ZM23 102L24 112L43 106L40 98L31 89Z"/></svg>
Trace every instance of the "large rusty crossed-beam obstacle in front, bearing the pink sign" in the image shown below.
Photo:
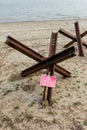
<svg viewBox="0 0 87 130"><path fill-rule="evenodd" d="M75 56L75 48L70 47L68 49L65 49L62 52L55 54L56 45L57 45L57 36L58 36L58 32L57 33L52 32L48 57L44 57L40 55L39 53L23 45L22 43L12 38L11 36L7 37L7 40L5 42L6 44L18 50L19 52L27 55L28 57L36 60L37 62L39 62L34 66L31 66L23 70L21 72L22 77L28 76L29 74L35 73L42 69L46 69L46 75L50 75L50 76L54 75L54 71L63 75L64 77L71 76L71 73L69 71L65 70L64 68L56 64ZM44 86L43 101L48 101L50 105L52 104L52 89L53 88L51 87Z"/></svg>

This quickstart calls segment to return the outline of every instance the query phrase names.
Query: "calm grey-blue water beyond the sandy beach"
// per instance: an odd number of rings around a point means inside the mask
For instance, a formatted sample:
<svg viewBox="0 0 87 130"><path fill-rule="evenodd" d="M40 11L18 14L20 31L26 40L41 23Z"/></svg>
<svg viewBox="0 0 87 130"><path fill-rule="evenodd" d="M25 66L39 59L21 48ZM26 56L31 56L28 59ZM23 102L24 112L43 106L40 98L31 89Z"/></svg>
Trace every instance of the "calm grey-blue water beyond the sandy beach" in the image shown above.
<svg viewBox="0 0 87 130"><path fill-rule="evenodd" d="M0 0L0 22L87 18L87 0Z"/></svg>

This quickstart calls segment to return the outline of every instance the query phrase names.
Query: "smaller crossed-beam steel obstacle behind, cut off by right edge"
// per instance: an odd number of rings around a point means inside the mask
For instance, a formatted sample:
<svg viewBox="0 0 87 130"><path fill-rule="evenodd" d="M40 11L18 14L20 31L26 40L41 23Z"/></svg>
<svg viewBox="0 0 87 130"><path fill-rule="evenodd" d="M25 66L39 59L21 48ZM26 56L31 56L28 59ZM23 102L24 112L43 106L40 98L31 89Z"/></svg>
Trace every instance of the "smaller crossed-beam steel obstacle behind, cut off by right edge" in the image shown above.
<svg viewBox="0 0 87 130"><path fill-rule="evenodd" d="M75 23L75 31L76 31L76 36L65 31L64 29L60 29L58 32L63 34L64 36L72 39L72 41L70 41L68 44L66 44L64 46L64 48L68 48L70 47L73 43L78 42L78 49L79 49L79 55L80 56L84 56L84 52L83 52L83 48L82 45L84 45L85 47L87 47L87 42L82 40L81 38L84 37L87 34L87 31L83 32L82 34L80 34L80 29L79 29L79 24L78 21Z"/></svg>

